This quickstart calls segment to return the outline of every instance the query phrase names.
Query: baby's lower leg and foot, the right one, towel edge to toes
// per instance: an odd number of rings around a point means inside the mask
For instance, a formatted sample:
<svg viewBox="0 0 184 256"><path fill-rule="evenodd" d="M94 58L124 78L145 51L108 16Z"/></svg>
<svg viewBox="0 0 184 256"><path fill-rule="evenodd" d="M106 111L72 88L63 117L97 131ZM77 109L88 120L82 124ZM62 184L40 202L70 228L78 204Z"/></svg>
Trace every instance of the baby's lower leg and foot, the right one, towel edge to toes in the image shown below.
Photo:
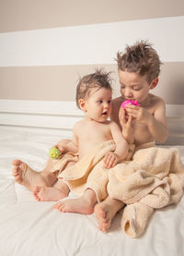
<svg viewBox="0 0 184 256"><path fill-rule="evenodd" d="M53 207L63 213L91 214L93 213L94 205L96 202L97 196L95 191L92 189L86 189L82 197L60 201Z"/></svg>

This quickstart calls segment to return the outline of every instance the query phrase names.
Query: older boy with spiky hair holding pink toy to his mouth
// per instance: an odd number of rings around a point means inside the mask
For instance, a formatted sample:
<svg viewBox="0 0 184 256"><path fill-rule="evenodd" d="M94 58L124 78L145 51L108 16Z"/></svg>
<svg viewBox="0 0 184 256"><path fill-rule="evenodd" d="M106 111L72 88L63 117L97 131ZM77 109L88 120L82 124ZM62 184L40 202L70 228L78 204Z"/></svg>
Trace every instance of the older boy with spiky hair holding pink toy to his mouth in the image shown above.
<svg viewBox="0 0 184 256"><path fill-rule="evenodd" d="M117 63L121 97L112 102L111 120L122 127L124 137L135 149L155 140L164 142L167 139L166 104L149 92L158 83L159 56L150 43L141 41L118 53ZM127 105L123 109L121 103L125 100L136 100L141 106ZM99 229L107 232L112 218L123 205L109 197L98 203L95 213Z"/></svg>

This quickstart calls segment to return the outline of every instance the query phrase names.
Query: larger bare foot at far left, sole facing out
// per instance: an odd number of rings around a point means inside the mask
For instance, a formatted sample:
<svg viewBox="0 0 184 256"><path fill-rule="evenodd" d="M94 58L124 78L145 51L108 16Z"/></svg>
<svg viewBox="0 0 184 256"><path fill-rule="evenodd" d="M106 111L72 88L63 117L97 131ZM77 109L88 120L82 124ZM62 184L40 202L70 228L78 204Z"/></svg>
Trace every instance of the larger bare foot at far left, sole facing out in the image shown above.
<svg viewBox="0 0 184 256"><path fill-rule="evenodd" d="M39 172L32 170L29 165L21 162L20 160L14 160L12 175L15 177L15 181L29 190L32 190L35 186L46 186L44 178Z"/></svg>

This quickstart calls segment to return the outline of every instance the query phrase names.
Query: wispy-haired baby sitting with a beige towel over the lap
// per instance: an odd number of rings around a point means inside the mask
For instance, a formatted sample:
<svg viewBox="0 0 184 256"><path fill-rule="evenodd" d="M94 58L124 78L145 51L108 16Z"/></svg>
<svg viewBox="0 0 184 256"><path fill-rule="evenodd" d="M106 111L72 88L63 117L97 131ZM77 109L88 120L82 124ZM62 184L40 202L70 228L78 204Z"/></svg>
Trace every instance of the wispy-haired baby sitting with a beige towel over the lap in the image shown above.
<svg viewBox="0 0 184 256"><path fill-rule="evenodd" d="M109 74L97 70L96 73L80 79L76 88L76 104L84 111L84 119L74 126L73 140L66 143L66 147L78 151L80 161L101 142L114 140L115 151L107 152L103 158L106 168L111 168L126 158L128 153L127 141L123 138L121 128L109 121L111 113L112 90ZM61 145L59 146L61 149ZM66 149L63 145L63 151ZM70 163L75 165L74 162ZM58 179L54 187L37 186L33 189L38 201L58 201L67 197L69 187L62 179ZM77 199L60 201L54 205L61 212L93 213L97 195L93 188L87 188Z"/></svg>

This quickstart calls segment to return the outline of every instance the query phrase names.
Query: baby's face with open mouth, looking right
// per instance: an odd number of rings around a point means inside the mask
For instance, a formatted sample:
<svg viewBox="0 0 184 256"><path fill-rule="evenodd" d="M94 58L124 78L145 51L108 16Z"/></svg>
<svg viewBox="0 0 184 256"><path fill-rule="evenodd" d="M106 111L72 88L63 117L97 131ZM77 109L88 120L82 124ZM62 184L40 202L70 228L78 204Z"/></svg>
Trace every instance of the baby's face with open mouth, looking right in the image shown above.
<svg viewBox="0 0 184 256"><path fill-rule="evenodd" d="M87 118L105 122L111 113L112 91L105 88L92 88L83 110Z"/></svg>

